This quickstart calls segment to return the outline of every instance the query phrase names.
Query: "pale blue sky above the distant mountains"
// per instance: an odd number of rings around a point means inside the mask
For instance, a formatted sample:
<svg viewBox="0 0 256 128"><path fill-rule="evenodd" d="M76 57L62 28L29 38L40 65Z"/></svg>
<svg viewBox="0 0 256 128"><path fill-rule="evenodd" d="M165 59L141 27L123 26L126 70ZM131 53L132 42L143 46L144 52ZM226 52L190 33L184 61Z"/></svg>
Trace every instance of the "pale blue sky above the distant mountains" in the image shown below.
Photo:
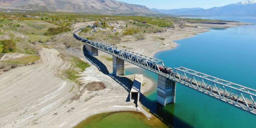
<svg viewBox="0 0 256 128"><path fill-rule="evenodd" d="M146 5L148 8L176 9L176 8L195 8L204 9L214 6L224 6L230 3L242 2L245 0L117 0L131 4Z"/></svg>

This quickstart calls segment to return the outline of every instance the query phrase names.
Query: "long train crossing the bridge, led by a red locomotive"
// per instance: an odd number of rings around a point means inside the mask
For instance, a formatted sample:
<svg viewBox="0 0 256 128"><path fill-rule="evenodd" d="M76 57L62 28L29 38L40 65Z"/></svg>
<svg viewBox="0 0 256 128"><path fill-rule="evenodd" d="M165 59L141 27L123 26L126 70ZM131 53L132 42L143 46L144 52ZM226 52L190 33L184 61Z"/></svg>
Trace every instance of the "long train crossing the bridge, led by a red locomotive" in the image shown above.
<svg viewBox="0 0 256 128"><path fill-rule="evenodd" d="M82 41L82 42L84 42L84 43L91 44L91 45L93 45L93 44L98 45L98 42L93 42L93 41L90 41L90 40L88 40L88 39L84 39L83 37L78 36L78 35L76 34L76 32L80 31L81 29L84 29L84 28L79 28L78 30L76 30L76 31L73 33L73 36L74 36L77 40ZM105 48L105 50L107 50L107 48ZM110 51L110 52L113 52L113 53L115 53L115 54L121 53L121 50L112 49L112 48L109 48L109 51ZM134 62L136 61L136 59L134 59L134 56L132 56L132 55L129 54L129 53L125 53L124 56L125 56L125 58L131 58L131 60L133 60ZM139 62L143 62L143 59L139 60ZM149 62L149 61L146 61L146 63L141 63L141 64L143 64L143 65L148 65L149 67L151 67L151 68L153 68L153 69L155 68L155 65L153 65L153 63L152 63L152 62ZM158 68L159 68L159 70L160 70L162 73L165 73L165 74L168 74L168 75L170 75L171 73L173 74L173 70L172 70L172 68L170 68L170 67L167 67L167 66L164 66L164 65L158 65ZM156 69L157 69L157 68L156 68ZM171 74L171 75L172 75L172 74Z"/></svg>

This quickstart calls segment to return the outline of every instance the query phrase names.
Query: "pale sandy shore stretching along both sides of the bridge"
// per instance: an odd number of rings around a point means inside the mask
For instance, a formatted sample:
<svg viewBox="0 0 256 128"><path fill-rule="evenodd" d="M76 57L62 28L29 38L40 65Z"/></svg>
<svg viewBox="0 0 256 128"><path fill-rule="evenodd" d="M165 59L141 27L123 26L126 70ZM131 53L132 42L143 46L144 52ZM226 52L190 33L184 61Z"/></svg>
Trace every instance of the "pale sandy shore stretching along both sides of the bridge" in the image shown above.
<svg viewBox="0 0 256 128"><path fill-rule="evenodd" d="M77 29L85 24L88 23L75 24L73 28ZM228 24L229 26L219 27L245 25ZM122 42L118 47L152 57L161 50L175 48L175 40L192 37L216 27L216 24L190 24L198 28L180 28L178 25L175 24L176 28L169 28L164 33L146 34L143 41ZM112 72L112 62L106 60L112 56L107 53L99 52L99 56L95 58L85 58L82 51L76 55L91 65L81 74L81 86L62 79L62 71L69 68L70 63L59 57L57 50L43 49L40 54L41 63L15 68L1 75L0 127L67 128L97 113L136 111L133 102L126 102L134 75L113 77L99 71L105 67L104 71ZM129 63L125 66L134 67ZM87 91L85 86L95 81L102 81L106 89ZM143 83L143 93L153 86L152 81L147 78L144 78ZM147 117L151 116L142 108L139 111Z"/></svg>

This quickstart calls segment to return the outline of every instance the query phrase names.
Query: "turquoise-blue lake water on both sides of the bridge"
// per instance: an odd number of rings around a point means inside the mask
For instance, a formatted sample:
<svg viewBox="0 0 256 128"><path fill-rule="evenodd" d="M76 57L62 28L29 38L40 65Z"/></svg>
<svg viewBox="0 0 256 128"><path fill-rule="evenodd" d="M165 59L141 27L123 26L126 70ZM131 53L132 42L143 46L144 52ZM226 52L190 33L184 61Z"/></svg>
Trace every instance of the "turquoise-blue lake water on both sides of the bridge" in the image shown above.
<svg viewBox="0 0 256 128"><path fill-rule="evenodd" d="M199 17L256 24L256 18ZM175 41L175 49L157 53L172 68L183 66L256 89L256 25L211 29L195 37ZM126 75L144 74L157 83L157 75L128 68ZM256 128L256 116L177 84L176 103L156 102L156 86L141 102L175 128Z"/></svg>

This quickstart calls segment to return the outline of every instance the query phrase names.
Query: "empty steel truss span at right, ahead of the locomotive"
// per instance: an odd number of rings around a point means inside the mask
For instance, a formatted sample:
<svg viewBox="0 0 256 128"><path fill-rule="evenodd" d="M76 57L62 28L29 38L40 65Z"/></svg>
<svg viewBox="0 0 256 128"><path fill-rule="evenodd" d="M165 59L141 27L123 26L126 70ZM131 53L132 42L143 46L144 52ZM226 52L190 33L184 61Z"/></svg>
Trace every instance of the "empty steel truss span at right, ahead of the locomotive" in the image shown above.
<svg viewBox="0 0 256 128"><path fill-rule="evenodd" d="M174 68L181 83L206 93L235 107L256 114L256 90L188 68Z"/></svg>

